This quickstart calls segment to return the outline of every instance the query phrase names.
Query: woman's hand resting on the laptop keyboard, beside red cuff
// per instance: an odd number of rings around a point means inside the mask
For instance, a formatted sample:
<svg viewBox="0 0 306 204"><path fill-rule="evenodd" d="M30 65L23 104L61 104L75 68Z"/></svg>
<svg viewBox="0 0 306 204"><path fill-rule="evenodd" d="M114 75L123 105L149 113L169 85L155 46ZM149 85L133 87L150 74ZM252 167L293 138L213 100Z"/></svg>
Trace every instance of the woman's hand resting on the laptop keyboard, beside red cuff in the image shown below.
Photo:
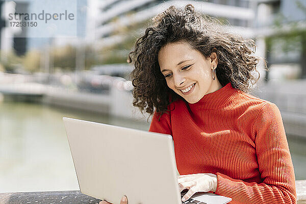
<svg viewBox="0 0 306 204"><path fill-rule="evenodd" d="M215 192L217 189L217 175L212 173L178 175L177 181L179 182L180 192L184 189L189 189L182 198L183 202L196 192Z"/></svg>

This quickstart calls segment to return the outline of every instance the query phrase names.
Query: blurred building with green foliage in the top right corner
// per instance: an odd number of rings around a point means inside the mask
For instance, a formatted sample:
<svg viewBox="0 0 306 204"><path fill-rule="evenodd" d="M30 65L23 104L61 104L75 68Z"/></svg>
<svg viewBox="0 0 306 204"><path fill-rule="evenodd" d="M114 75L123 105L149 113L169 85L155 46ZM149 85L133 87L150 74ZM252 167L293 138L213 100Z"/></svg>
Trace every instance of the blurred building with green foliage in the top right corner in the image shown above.
<svg viewBox="0 0 306 204"><path fill-rule="evenodd" d="M264 39L267 80L306 78L306 1L259 0L254 31Z"/></svg>

